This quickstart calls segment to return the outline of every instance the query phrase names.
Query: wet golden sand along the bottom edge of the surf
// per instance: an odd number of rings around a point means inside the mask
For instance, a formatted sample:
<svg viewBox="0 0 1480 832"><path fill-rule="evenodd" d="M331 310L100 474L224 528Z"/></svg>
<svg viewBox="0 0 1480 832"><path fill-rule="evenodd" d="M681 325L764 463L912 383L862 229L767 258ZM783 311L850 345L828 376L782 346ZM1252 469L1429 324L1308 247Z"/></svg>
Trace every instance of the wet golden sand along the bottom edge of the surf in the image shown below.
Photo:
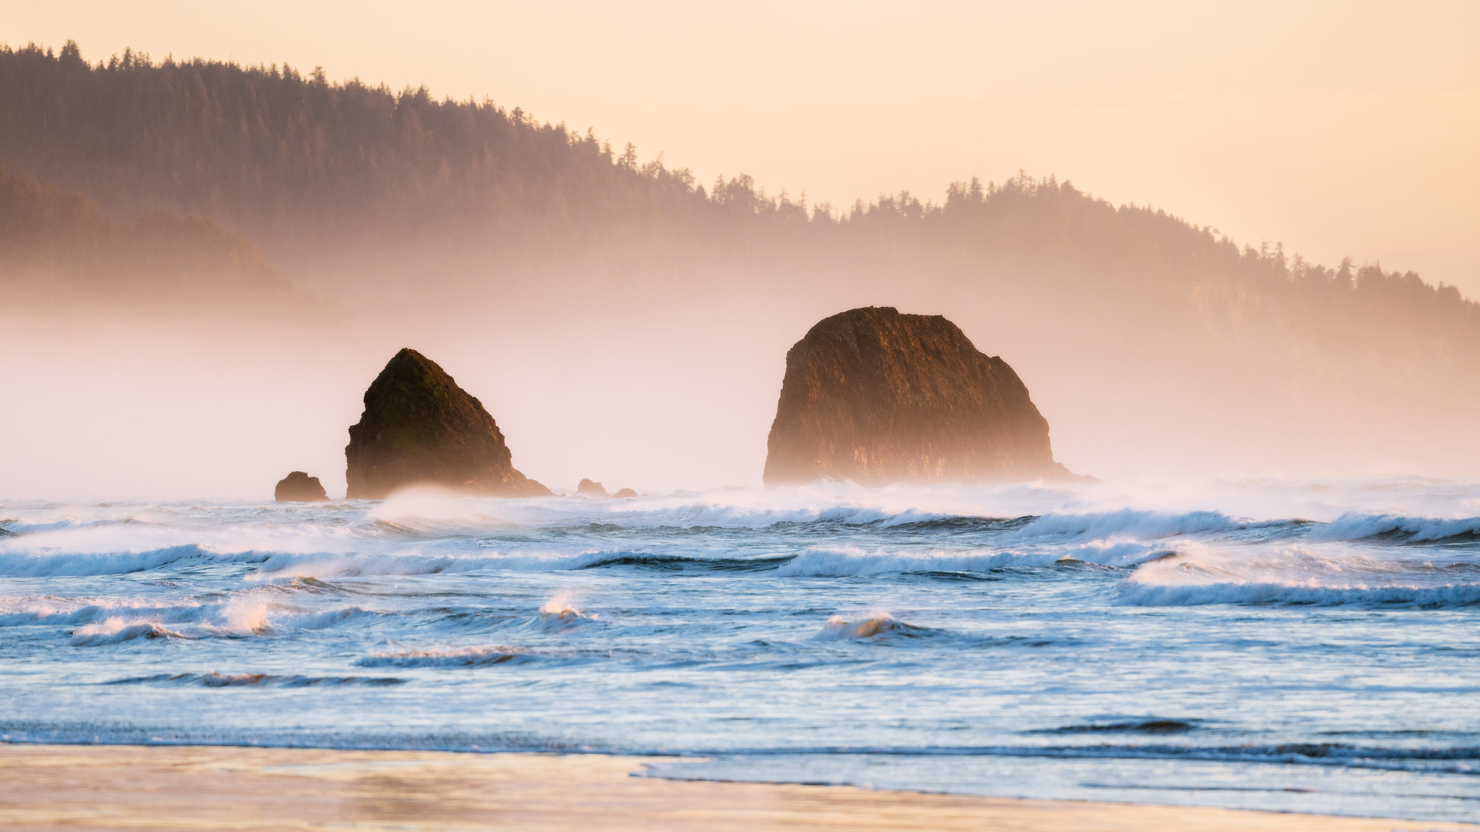
<svg viewBox="0 0 1480 832"><path fill-rule="evenodd" d="M1464 823L629 776L650 759L0 745L0 828L1480 831Z"/></svg>

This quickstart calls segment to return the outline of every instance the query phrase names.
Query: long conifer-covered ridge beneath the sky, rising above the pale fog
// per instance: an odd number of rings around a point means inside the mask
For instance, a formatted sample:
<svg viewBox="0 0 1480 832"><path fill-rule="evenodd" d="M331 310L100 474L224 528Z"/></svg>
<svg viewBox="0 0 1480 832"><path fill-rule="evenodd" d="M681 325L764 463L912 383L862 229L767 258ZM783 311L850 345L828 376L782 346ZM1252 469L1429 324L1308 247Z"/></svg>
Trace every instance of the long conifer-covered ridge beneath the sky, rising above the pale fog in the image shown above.
<svg viewBox="0 0 1480 832"><path fill-rule="evenodd" d="M924 287L947 314L1072 345L1086 367L1111 361L1114 345L1187 379L1205 407L1252 407L1199 380L1231 379L1311 425L1384 413L1369 432L1480 369L1480 305L1452 286L1240 246L1054 178L815 206L744 175L706 187L662 157L642 163L630 145L493 101L330 83L318 68L3 47L0 164L80 194L120 228L157 224L141 218L160 210L210 222L327 292L407 275L428 292L440 281L685 298ZM7 188L4 198L19 192ZM1446 416L1433 429L1464 423L1470 398L1434 404Z"/></svg>

